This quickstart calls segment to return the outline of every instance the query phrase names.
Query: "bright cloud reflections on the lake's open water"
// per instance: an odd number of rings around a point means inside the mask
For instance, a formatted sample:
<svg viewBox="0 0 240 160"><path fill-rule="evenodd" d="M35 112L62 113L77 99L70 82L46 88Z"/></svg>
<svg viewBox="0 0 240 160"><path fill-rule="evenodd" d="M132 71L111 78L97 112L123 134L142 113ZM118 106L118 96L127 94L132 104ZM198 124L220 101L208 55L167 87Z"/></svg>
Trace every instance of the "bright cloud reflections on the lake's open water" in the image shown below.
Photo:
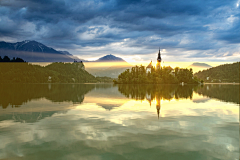
<svg viewBox="0 0 240 160"><path fill-rule="evenodd" d="M41 111L61 111L62 106L67 112L56 112L35 123L1 121L0 159L53 159L53 154L55 159L238 158L237 105L162 100L158 120L156 107L150 108L146 100L122 99L111 111L95 100L89 103L86 96L84 103L72 108L70 103L46 105L42 99L39 104L45 107L39 106ZM105 100L104 104L112 104ZM40 111L39 107L32 109Z"/></svg>

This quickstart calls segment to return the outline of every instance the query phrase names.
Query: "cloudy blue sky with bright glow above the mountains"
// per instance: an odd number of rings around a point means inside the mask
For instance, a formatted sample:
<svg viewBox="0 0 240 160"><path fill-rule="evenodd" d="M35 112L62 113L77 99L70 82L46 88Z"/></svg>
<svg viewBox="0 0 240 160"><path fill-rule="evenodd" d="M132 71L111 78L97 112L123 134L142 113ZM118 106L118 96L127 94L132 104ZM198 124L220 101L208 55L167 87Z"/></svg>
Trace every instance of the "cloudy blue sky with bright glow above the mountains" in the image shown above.
<svg viewBox="0 0 240 160"><path fill-rule="evenodd" d="M0 41L81 59L240 61L240 0L1 0Z"/></svg>

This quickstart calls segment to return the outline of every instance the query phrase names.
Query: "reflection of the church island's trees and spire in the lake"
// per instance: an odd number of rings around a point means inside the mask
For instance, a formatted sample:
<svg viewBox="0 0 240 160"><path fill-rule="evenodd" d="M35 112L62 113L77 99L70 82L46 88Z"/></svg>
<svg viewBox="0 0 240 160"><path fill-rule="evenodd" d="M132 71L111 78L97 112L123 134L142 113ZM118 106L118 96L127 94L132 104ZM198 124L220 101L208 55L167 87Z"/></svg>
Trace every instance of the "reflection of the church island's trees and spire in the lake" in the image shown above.
<svg viewBox="0 0 240 160"><path fill-rule="evenodd" d="M171 100L173 98L192 99L193 90L196 85L119 85L118 90L128 98L136 100L147 99L151 102L156 99L156 109L159 118L161 110L161 99Z"/></svg>

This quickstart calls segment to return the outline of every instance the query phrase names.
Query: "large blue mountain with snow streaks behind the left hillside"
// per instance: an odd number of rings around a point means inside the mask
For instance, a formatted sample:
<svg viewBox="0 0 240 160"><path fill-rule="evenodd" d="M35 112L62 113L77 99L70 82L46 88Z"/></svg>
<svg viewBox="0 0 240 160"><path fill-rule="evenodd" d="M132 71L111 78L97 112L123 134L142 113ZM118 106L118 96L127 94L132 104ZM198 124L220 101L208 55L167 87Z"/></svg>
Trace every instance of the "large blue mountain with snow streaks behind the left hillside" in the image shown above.
<svg viewBox="0 0 240 160"><path fill-rule="evenodd" d="M37 41L25 40L22 42L0 42L0 56L19 57L27 62L73 62L73 57L66 52L59 52Z"/></svg>

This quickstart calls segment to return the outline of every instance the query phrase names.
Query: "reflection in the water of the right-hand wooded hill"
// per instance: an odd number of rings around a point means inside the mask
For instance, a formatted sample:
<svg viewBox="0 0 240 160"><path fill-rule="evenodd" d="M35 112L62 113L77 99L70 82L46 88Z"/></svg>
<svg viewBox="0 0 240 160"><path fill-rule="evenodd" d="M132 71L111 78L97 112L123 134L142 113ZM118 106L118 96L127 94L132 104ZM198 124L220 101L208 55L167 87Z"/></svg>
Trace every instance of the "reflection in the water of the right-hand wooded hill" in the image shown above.
<svg viewBox="0 0 240 160"><path fill-rule="evenodd" d="M210 98L239 104L239 85L207 84L195 92Z"/></svg>

